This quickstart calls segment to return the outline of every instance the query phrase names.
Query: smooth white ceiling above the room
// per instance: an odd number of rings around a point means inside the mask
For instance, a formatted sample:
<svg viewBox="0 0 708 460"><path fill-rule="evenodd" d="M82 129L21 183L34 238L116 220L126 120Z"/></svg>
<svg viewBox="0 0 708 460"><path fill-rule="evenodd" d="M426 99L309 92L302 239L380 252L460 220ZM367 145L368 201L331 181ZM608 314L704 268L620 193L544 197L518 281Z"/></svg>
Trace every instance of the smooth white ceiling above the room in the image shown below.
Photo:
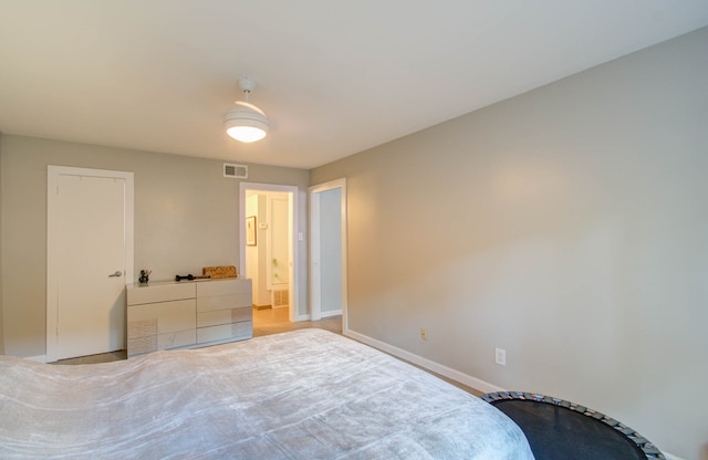
<svg viewBox="0 0 708 460"><path fill-rule="evenodd" d="M0 0L0 132L312 168L707 24L706 0ZM221 128L241 76L256 144Z"/></svg>

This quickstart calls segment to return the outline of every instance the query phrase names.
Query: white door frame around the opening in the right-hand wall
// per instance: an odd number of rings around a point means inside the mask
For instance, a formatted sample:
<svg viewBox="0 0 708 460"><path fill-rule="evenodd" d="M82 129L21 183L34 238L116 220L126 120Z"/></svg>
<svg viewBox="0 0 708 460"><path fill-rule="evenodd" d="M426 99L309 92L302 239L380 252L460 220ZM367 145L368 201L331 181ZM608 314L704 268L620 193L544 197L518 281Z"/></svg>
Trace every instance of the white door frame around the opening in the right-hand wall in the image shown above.
<svg viewBox="0 0 708 460"><path fill-rule="evenodd" d="M346 178L330 180L310 187L310 301L312 321L322 318L322 270L320 264L320 254L322 251L320 239L320 194L329 190L340 189L340 208L342 219L342 332L348 332L348 294L347 294L347 210L346 210Z"/></svg>

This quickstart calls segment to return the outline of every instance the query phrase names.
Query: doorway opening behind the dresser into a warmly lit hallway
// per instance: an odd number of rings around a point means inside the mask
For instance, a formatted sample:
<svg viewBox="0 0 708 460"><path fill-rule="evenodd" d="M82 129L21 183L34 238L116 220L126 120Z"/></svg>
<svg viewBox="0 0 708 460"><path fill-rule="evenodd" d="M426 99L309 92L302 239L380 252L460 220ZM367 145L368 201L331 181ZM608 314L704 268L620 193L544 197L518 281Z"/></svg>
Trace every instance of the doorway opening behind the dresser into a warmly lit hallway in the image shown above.
<svg viewBox="0 0 708 460"><path fill-rule="evenodd" d="M240 209L240 272L253 282L253 304L287 304L288 320L300 321L298 187L241 182Z"/></svg>

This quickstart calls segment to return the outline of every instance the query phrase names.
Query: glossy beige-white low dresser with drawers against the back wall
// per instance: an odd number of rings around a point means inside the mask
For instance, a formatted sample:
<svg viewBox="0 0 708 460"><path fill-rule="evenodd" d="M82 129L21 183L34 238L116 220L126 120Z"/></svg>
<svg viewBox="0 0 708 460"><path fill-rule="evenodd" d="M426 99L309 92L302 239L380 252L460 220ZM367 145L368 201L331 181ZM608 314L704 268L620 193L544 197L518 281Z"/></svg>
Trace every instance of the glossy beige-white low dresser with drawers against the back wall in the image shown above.
<svg viewBox="0 0 708 460"><path fill-rule="evenodd" d="M127 286L128 357L253 336L251 280Z"/></svg>

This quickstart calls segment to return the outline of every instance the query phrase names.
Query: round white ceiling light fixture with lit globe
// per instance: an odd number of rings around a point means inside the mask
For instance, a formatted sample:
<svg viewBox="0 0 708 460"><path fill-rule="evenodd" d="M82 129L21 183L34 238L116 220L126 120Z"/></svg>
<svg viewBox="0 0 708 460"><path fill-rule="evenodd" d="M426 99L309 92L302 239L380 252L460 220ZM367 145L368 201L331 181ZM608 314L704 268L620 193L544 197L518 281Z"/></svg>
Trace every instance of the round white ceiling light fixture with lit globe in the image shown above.
<svg viewBox="0 0 708 460"><path fill-rule="evenodd" d="M243 91L244 101L236 101L236 107L223 115L223 127L236 140L254 143L266 137L268 118L263 111L248 102L248 95L256 90L256 82L243 77L239 80L239 86Z"/></svg>

